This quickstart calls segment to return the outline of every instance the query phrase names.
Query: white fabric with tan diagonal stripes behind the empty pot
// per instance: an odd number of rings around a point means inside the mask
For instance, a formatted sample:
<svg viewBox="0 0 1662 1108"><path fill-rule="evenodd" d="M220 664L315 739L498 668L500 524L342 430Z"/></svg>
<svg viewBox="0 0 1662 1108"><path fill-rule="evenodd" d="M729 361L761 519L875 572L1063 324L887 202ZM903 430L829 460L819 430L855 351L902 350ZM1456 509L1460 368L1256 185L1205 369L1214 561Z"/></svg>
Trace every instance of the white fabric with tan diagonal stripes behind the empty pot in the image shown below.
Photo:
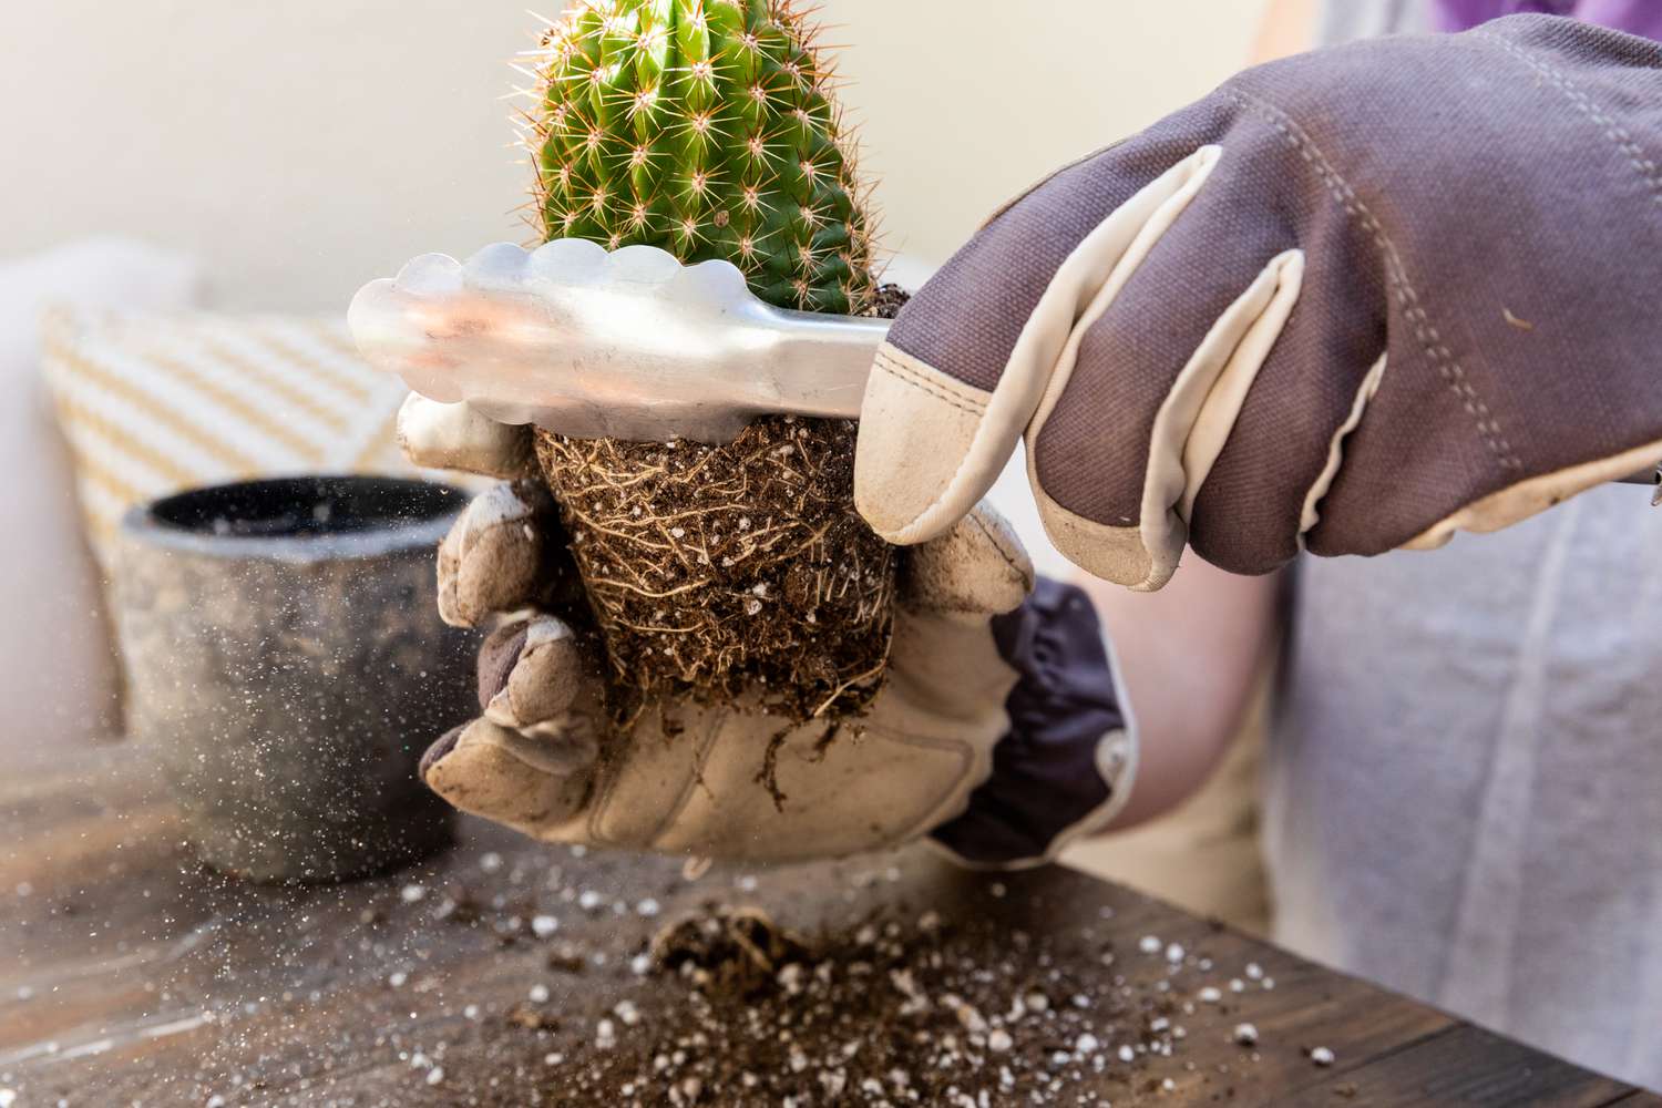
<svg viewBox="0 0 1662 1108"><path fill-rule="evenodd" d="M86 535L108 571L121 513L181 488L296 473L412 473L406 387L344 319L55 309L43 367Z"/></svg>

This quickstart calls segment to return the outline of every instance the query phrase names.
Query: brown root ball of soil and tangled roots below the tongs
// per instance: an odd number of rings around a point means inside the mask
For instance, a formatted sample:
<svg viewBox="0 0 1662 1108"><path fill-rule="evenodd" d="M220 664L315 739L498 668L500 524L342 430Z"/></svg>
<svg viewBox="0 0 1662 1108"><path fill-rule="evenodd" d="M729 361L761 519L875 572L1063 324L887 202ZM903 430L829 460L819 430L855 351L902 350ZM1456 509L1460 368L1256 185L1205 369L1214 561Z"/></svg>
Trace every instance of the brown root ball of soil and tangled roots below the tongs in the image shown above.
<svg viewBox="0 0 1662 1108"><path fill-rule="evenodd" d="M878 314L906 302L896 286ZM801 723L883 684L896 552L854 510L851 420L765 417L725 445L537 432L607 643L613 711L760 691Z"/></svg>

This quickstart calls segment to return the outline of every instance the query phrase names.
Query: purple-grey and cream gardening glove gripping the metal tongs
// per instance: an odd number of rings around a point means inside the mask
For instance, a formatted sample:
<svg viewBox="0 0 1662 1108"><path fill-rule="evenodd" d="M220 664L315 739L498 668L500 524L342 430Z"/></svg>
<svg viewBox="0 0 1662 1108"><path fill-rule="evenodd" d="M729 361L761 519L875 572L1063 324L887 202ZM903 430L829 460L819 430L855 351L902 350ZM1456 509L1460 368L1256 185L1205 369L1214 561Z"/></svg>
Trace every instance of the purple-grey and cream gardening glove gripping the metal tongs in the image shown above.
<svg viewBox="0 0 1662 1108"><path fill-rule="evenodd" d="M1662 47L1514 17L1230 80L997 213L861 415L879 535L1017 439L1055 545L1163 585L1494 530L1662 458Z"/></svg>

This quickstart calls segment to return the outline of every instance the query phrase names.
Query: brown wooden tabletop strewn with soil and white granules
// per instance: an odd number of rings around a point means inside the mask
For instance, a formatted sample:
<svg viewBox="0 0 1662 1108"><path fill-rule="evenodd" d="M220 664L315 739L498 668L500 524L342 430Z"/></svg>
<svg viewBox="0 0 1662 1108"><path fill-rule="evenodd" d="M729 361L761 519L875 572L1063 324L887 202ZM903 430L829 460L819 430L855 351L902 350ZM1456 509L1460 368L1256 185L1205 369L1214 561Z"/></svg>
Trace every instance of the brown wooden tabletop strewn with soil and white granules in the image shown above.
<svg viewBox="0 0 1662 1108"><path fill-rule="evenodd" d="M967 875L912 851L690 880L668 860L573 856L462 821L454 849L399 874L256 889L191 859L141 753L60 757L0 781L0 1105L13 1108L788 1093L799 1108L1662 1105L1062 869ZM640 957L703 904L758 905L814 952L711 1008ZM814 1015L816 990L841 1023ZM911 992L907 1013L859 1013ZM1240 1023L1256 1045L1237 1042ZM1323 1050L1330 1065L1311 1057ZM861 1078L881 1052L911 1070ZM756 1085L716 1088L701 1065L750 1068Z"/></svg>

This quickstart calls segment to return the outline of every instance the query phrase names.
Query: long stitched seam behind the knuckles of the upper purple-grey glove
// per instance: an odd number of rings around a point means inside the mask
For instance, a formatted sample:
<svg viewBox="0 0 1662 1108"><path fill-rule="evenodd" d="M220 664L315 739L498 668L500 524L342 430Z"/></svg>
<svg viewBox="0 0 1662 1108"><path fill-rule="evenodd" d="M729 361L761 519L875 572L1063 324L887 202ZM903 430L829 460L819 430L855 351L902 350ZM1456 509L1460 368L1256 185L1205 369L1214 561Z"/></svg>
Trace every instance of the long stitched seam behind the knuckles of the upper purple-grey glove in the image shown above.
<svg viewBox="0 0 1662 1108"><path fill-rule="evenodd" d="M1356 189L1353 189L1350 183L1340 176L1338 169L1335 169L1333 164L1321 154L1303 128L1300 128L1298 123L1295 123L1285 111L1240 88L1230 91L1230 100L1238 108L1263 116L1268 125L1286 140L1288 146L1298 151L1298 156L1316 171L1340 206L1351 218L1361 223L1363 229L1369 234L1373 244L1379 249L1379 254L1384 259L1386 277L1391 282L1391 289L1396 292L1396 301L1403 309L1404 319L1413 326L1414 339L1419 341L1419 349L1424 352L1426 360L1431 362L1433 369L1438 370L1438 375L1449 385L1466 414L1473 417L1478 427L1478 435L1483 439L1484 445L1489 447L1489 452L1494 453L1501 468L1522 470L1524 463L1512 450L1512 444L1507 442L1506 435L1501 432L1499 420L1466 379L1466 370L1461 369L1461 364L1454 359L1453 351L1443 344L1441 332L1426 316L1426 309L1419 302L1419 292L1414 291L1413 282L1408 279L1408 269L1403 266L1396 244L1391 243L1389 236L1386 236L1384 228L1379 226L1379 221L1374 218L1373 211L1368 209L1368 204L1356 196Z"/></svg>

